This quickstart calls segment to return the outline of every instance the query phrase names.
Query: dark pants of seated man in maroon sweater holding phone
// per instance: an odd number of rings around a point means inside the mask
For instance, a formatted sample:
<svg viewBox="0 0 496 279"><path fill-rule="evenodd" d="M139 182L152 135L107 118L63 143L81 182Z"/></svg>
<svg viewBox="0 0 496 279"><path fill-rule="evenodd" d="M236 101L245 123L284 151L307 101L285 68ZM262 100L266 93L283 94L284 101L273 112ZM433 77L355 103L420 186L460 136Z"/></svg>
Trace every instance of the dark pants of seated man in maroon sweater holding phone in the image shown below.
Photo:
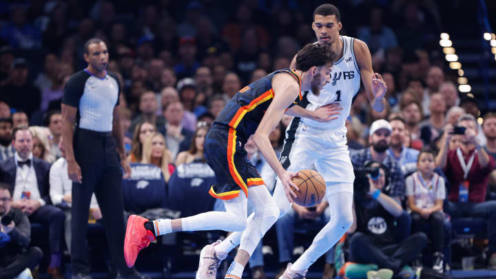
<svg viewBox="0 0 496 279"><path fill-rule="evenodd" d="M451 219L462 217L478 217L488 221L489 254L496 253L496 200L488 200L483 203L453 203L448 201L444 211Z"/></svg>

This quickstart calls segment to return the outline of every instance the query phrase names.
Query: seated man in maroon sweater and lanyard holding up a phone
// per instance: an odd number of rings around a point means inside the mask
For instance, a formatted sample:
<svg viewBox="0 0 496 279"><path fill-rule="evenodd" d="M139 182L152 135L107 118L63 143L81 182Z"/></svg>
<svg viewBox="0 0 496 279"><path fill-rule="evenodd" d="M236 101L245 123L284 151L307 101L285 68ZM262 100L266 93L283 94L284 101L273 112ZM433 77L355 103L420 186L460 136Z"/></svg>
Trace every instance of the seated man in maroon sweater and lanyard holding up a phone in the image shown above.
<svg viewBox="0 0 496 279"><path fill-rule="evenodd" d="M451 138L457 134L461 143L448 150ZM486 189L495 160L477 141L477 122L471 114L458 119L458 126L448 124L444 129L436 164L441 167L451 185L445 211L451 218L479 217L488 220L489 268L496 269L496 200L486 201Z"/></svg>

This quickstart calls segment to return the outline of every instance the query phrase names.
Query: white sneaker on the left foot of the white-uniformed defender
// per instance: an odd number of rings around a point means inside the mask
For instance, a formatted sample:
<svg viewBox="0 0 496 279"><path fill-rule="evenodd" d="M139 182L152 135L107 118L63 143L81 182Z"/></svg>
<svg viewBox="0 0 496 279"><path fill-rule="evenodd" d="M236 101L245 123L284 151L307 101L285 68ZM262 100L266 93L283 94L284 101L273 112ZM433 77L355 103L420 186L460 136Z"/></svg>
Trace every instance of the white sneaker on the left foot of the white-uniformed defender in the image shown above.
<svg viewBox="0 0 496 279"><path fill-rule="evenodd" d="M196 279L215 279L218 266L226 257L227 253L214 250L214 246L218 245L220 240L205 245L200 252L200 262L198 263L198 271L196 271Z"/></svg>

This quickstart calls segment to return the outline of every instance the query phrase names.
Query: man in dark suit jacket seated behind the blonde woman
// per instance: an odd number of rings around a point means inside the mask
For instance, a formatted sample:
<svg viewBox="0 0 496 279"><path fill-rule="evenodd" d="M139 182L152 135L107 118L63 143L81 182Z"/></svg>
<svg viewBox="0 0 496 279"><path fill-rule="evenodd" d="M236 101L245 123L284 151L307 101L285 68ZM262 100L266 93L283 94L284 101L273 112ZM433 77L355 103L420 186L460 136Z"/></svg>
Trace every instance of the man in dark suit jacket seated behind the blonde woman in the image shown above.
<svg viewBox="0 0 496 279"><path fill-rule="evenodd" d="M184 106L179 101L167 104L164 107L164 116L167 123L162 127L158 127L158 132L165 136L165 144L171 152L172 158L176 158L179 152L189 149L193 138L194 132L181 125L183 114Z"/></svg>

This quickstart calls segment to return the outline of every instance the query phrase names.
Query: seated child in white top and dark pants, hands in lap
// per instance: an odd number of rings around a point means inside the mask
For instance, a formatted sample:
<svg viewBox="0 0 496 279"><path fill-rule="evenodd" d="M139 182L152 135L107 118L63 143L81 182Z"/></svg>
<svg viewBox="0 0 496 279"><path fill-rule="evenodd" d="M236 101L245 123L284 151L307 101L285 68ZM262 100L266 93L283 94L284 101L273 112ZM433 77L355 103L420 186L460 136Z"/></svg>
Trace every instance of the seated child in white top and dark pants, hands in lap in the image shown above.
<svg viewBox="0 0 496 279"><path fill-rule="evenodd" d="M433 269L443 271L444 256L444 212L446 197L444 178L434 172L435 152L423 149L417 157L417 172L406 178L406 196L412 216L413 232L423 231L425 223L431 225L431 240L434 251Z"/></svg>

